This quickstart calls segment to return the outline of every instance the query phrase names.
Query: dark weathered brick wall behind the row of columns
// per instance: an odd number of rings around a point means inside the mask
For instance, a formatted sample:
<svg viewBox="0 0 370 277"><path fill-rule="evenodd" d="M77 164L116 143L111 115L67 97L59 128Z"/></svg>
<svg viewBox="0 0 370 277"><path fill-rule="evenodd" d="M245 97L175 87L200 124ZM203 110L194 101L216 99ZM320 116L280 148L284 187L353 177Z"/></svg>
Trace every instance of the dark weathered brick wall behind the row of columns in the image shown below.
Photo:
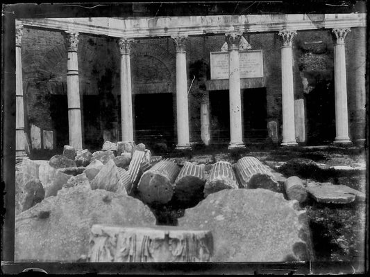
<svg viewBox="0 0 370 277"><path fill-rule="evenodd" d="M267 88L266 121L274 120L278 123L280 136L282 42L278 33L246 33L244 37L252 49L263 51L262 86ZM200 107L206 90L205 82L210 79L209 53L220 51L224 42L224 35L204 35L187 39L188 88L195 76L189 93L190 141L201 141ZM346 38L351 139L363 136L365 42L365 28L352 28ZM330 30L298 31L298 35L294 37L293 49L294 98L306 98L315 89L318 95L333 93L333 40ZM176 96L175 59L176 51L171 38L138 39L131 55L133 93L173 93ZM67 97L67 53L62 33L24 28L22 66L28 114L26 129L31 123L42 129L56 129L55 119L51 118L50 111L52 95ZM94 105L94 109L90 104L87 104L89 107L81 107L85 109L82 116L84 139L87 144L99 145L103 141L103 130L120 129L119 51L115 39L81 34L78 44L78 67L81 95L85 98L91 96L90 103L99 102L99 105ZM325 87L331 92L323 92ZM86 101L85 103L89 102ZM83 102L81 101L82 106ZM330 103L325 105L330 106ZM97 112L96 107L99 107ZM326 106L323 109L330 110ZM176 136L176 97L173 97L173 114ZM308 120L310 118L306 118L306 129L310 128ZM307 133L310 135L310 130Z"/></svg>

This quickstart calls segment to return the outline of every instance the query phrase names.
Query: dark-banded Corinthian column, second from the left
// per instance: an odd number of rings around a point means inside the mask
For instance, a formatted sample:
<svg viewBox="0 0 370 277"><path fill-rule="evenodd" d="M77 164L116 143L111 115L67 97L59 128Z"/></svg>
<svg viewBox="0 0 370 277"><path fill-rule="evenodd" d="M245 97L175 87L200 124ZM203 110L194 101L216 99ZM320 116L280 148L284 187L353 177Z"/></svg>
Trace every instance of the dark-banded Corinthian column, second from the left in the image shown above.
<svg viewBox="0 0 370 277"><path fill-rule="evenodd" d="M66 32L69 145L82 150L80 87L78 82L78 33Z"/></svg>

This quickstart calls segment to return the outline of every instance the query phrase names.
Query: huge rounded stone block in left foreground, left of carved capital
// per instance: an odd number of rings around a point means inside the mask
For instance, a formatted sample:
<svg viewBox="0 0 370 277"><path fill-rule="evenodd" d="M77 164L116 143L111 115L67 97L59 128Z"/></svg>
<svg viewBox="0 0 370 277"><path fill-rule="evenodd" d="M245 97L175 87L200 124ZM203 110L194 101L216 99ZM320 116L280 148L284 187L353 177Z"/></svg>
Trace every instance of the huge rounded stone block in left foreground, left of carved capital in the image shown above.
<svg viewBox="0 0 370 277"><path fill-rule="evenodd" d="M15 261L76 262L88 253L93 224L154 226L155 217L133 197L86 186L62 188L15 219Z"/></svg>

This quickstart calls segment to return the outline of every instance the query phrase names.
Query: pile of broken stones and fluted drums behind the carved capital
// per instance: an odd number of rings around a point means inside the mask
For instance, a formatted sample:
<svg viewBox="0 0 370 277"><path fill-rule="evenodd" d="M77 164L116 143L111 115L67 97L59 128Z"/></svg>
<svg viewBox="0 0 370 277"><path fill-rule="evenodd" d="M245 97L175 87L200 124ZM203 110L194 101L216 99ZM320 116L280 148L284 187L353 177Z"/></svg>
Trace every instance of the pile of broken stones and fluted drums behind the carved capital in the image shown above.
<svg viewBox="0 0 370 277"><path fill-rule="evenodd" d="M103 224L99 230L116 230L109 226L117 224L154 227L163 224L158 219L167 213L176 220L166 222L176 225L185 209L178 225L186 234L196 228L210 231L214 261L312 260L303 203L309 198L323 203L364 199L346 186L285 178L255 157L234 164L211 162L162 159L142 143L110 141L93 153L65 145L49 161L24 159L16 171L16 260L70 262L88 251L96 255L103 244L89 248L94 224ZM337 195L330 193L333 189ZM96 240L101 239L90 238Z"/></svg>

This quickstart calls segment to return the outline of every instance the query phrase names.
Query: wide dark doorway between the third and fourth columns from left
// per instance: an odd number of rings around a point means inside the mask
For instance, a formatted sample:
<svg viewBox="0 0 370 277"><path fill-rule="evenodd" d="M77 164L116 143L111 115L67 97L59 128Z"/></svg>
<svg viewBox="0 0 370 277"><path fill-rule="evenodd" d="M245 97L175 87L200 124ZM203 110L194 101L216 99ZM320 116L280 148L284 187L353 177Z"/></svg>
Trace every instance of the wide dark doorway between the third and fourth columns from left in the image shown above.
<svg viewBox="0 0 370 277"><path fill-rule="evenodd" d="M147 145L175 141L172 93L134 96L134 140Z"/></svg>

